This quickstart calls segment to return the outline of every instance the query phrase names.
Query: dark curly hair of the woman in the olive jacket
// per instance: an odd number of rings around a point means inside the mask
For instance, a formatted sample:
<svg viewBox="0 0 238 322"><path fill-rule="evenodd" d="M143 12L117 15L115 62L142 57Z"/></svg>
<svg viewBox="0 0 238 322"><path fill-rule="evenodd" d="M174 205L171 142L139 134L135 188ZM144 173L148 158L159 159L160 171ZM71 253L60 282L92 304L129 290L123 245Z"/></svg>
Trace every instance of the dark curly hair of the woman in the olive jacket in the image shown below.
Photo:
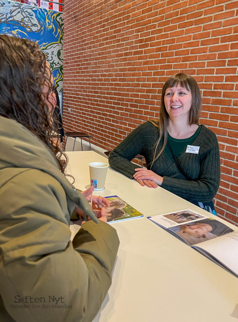
<svg viewBox="0 0 238 322"><path fill-rule="evenodd" d="M58 122L53 117L55 106L49 99L51 71L37 43L0 34L0 84L0 115L16 120L39 137L64 173L68 158L51 141L52 134L59 140ZM43 92L44 86L47 93Z"/></svg>

